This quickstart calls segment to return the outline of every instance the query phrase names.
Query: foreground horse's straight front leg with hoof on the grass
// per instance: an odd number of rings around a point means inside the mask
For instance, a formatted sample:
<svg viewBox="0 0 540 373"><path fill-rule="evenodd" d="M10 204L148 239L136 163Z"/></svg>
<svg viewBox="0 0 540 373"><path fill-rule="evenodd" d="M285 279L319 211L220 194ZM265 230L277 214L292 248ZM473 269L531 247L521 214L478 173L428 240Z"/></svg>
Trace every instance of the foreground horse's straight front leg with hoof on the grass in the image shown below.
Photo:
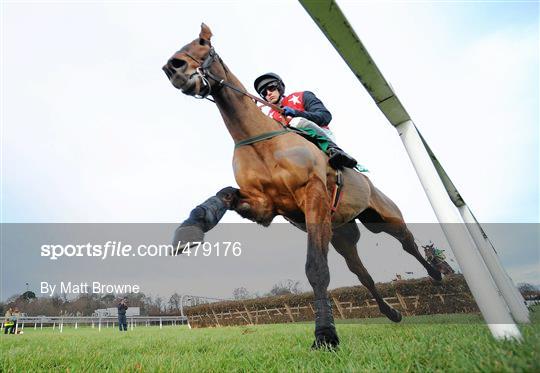
<svg viewBox="0 0 540 373"><path fill-rule="evenodd" d="M305 216L308 234L306 275L315 294L315 342L312 348L334 348L339 338L328 299L328 245L332 236L330 201L324 182L318 178L306 186Z"/></svg>

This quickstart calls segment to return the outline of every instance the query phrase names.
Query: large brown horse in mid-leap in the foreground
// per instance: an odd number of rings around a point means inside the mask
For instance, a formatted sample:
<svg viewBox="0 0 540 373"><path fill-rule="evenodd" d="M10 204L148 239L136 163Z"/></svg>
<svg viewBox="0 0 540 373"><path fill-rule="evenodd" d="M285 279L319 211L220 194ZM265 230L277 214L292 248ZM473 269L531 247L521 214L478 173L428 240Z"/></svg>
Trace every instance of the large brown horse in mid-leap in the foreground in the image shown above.
<svg viewBox="0 0 540 373"><path fill-rule="evenodd" d="M174 242L189 241L193 232L197 236L197 232L212 229L227 210L263 226L283 216L307 232L305 272L315 299L312 348L333 349L339 345L327 293L330 243L371 292L381 313L394 322L401 321L401 313L377 292L356 246L360 239L356 224L359 220L371 232L395 237L434 280L440 281L440 272L418 251L399 208L367 176L353 169L336 171L317 146L263 114L254 102L255 96L247 93L216 53L211 38L210 28L203 23L199 37L175 52L162 69L182 93L213 98L236 144L232 163L239 189L223 188L197 206L177 229ZM340 178L341 200L336 207L332 191ZM189 233L186 228L195 230Z"/></svg>

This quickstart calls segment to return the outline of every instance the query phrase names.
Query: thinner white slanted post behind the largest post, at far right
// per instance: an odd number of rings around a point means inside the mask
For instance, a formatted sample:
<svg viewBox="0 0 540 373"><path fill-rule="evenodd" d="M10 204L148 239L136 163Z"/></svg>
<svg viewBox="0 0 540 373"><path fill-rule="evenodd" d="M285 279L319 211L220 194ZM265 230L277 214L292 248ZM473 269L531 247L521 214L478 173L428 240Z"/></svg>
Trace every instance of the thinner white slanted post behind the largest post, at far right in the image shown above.
<svg viewBox="0 0 540 373"><path fill-rule="evenodd" d="M530 323L529 310L527 309L527 306L525 306L523 297L504 270L504 267L501 265L498 255L482 234L478 222L472 215L471 210L467 205L458 207L458 210L478 247L478 251L480 251L480 255L482 255L482 258L491 273L491 277L493 277L508 308L510 308L514 320L520 323Z"/></svg>

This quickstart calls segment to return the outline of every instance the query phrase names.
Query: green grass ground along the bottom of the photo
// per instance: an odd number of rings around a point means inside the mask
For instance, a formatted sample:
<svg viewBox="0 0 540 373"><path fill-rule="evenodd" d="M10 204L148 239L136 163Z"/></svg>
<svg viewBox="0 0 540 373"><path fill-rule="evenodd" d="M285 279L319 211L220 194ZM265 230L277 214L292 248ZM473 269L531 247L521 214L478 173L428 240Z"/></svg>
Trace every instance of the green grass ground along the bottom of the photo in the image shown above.
<svg viewBox="0 0 540 373"><path fill-rule="evenodd" d="M192 329L185 326L25 328L1 336L0 370L11 371L540 371L540 309L520 326L522 343L495 341L475 315L338 323L337 352L312 351L313 324ZM455 320L457 323L452 323Z"/></svg>

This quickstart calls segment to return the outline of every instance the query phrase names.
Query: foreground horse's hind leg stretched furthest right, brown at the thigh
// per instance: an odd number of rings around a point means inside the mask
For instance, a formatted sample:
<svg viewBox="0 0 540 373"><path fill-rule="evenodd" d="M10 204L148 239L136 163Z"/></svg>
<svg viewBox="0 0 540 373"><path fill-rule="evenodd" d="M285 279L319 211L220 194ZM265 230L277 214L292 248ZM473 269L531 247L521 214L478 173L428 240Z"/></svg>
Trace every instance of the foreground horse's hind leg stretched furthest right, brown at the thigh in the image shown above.
<svg viewBox="0 0 540 373"><path fill-rule="evenodd" d="M440 281L442 279L441 273L429 264L418 251L414 236L407 228L398 207L375 187L372 190L370 206L358 215L358 219L373 233L385 232L396 238L401 242L403 250L414 256L434 280Z"/></svg>

